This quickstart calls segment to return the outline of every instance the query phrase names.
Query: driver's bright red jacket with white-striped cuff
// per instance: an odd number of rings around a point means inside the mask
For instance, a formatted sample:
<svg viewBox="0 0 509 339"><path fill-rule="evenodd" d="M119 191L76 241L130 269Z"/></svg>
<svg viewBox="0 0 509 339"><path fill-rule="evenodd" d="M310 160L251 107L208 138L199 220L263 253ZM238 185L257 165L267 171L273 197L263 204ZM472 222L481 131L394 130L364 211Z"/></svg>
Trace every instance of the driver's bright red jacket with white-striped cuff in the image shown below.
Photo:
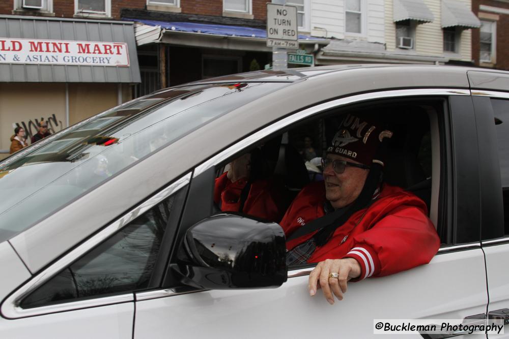
<svg viewBox="0 0 509 339"><path fill-rule="evenodd" d="M325 212L323 181L306 186L290 205L280 225L288 236ZM329 241L317 247L308 262L354 258L362 269L357 280L382 276L427 264L437 253L440 239L427 217L426 204L410 192L384 184L369 207L351 215ZM311 238L316 232L287 242L287 249Z"/></svg>

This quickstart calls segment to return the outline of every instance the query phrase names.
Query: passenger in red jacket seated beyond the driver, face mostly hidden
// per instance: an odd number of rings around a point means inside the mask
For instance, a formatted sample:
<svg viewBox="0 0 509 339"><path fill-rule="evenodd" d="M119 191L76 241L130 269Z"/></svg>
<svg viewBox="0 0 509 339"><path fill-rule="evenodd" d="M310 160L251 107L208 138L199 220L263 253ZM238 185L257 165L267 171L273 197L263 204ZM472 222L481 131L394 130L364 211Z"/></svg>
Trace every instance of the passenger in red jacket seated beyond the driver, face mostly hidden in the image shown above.
<svg viewBox="0 0 509 339"><path fill-rule="evenodd" d="M260 152L255 149L230 163L228 172L216 178L214 203L221 211L242 212L279 222L286 208L282 189L259 169Z"/></svg>

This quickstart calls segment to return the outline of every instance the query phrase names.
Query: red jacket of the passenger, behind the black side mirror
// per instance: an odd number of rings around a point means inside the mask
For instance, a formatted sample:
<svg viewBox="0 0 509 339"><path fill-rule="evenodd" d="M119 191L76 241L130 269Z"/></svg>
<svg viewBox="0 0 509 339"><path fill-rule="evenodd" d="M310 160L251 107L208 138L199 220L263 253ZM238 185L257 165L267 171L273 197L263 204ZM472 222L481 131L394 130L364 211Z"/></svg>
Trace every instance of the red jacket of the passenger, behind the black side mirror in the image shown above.
<svg viewBox="0 0 509 339"><path fill-rule="evenodd" d="M214 202L219 204L222 211L238 212L240 209L240 194L247 184L245 178L232 182L227 173L216 178L214 187ZM256 180L244 203L243 213L253 215L272 222L279 222L285 208L281 205L281 193L271 179Z"/></svg>

